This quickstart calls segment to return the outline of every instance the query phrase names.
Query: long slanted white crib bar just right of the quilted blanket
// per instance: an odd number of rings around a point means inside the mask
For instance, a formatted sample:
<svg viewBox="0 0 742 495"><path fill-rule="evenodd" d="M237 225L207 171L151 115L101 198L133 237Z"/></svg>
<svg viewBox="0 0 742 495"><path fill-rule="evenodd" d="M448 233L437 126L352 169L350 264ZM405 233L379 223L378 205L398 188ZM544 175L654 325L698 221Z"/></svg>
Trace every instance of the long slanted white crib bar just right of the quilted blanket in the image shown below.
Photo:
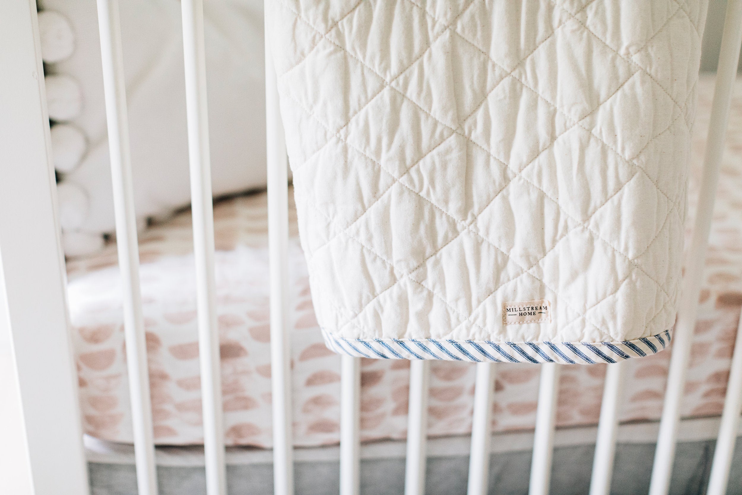
<svg viewBox="0 0 742 495"><path fill-rule="evenodd" d="M686 262L683 296L677 313L677 324L672 339L672 358L668 371L665 404L654 454L650 495L666 495L670 489L672 463L675 455L675 437L680 420L680 401L686 382L686 369L698 310L700 283L706 261L706 246L709 242L716 186L719 181L719 165L724 150L726 123L732 101L732 87L737 75L737 65L742 45L742 0L729 0L726 4L726 19L721 38L719 64L716 72L716 88L709 122L709 137L703 163L703 179L696 213L693 240Z"/></svg>

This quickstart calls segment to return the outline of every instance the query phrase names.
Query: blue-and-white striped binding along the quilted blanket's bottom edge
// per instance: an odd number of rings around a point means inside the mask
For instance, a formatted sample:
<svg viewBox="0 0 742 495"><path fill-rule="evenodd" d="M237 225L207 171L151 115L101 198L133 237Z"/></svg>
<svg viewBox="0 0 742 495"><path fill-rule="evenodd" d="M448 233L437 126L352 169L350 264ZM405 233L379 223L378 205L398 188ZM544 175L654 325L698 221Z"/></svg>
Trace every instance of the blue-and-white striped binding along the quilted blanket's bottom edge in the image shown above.
<svg viewBox="0 0 742 495"><path fill-rule="evenodd" d="M376 359L441 359L497 363L615 363L660 352L670 330L623 342L456 341L440 338L342 338L322 330L325 345L338 354Z"/></svg>

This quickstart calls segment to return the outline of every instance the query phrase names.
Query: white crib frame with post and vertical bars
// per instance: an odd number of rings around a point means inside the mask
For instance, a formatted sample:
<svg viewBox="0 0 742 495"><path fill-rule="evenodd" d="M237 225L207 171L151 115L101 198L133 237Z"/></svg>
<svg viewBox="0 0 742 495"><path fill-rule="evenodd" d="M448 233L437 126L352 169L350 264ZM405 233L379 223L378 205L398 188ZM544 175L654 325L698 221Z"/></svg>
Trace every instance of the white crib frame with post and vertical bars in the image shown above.
<svg viewBox="0 0 742 495"><path fill-rule="evenodd" d="M271 0L266 0L271 1ZM139 254L129 160L126 96L116 0L98 0L99 31L114 180L116 239L125 288L125 336L131 384L137 481L140 495L157 494L145 333L139 295ZM209 128L202 0L182 0L185 86L191 171L194 255L208 495L226 494L220 400L219 342L214 298L214 220L211 203ZM703 182L686 263L683 302L674 332L651 495L669 492L700 275L712 220L732 82L742 45L742 0L729 0L718 65ZM0 494L88 494L77 385L68 338L65 269L55 211L56 186L42 58L33 0L4 1L0 16L0 374L12 376L13 400L0 404L10 418L0 445ZM269 47L266 46L266 54ZM271 58L266 56L266 108L271 252L271 346L275 494L294 493L288 321L288 189L283 128ZM741 324L742 325L742 324ZM42 330L39 330L42 329ZM340 491L360 490L360 360L344 356L341 381ZM469 495L486 494L490 415L496 365L476 364ZM530 493L548 494L554 448L558 364L541 365ZM590 494L608 494L617 438L623 364L609 364L600 412ZM424 493L429 361L413 361L407 436L405 493ZM726 492L742 410L742 328L738 331L708 494Z"/></svg>

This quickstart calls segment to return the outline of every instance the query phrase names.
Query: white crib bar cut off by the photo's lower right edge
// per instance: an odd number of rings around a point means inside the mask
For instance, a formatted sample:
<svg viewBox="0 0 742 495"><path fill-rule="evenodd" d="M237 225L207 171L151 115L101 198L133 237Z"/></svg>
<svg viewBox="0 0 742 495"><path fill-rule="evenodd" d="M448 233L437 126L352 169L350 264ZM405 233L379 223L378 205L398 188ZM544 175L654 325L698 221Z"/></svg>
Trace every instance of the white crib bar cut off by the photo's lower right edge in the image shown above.
<svg viewBox="0 0 742 495"><path fill-rule="evenodd" d="M732 367L729 368L724 412L721 414L719 436L716 439L716 450L714 452L714 462L711 465L707 495L726 494L729 468L732 467L732 455L735 452L735 442L740 424L740 414L742 414L742 312L737 327Z"/></svg>

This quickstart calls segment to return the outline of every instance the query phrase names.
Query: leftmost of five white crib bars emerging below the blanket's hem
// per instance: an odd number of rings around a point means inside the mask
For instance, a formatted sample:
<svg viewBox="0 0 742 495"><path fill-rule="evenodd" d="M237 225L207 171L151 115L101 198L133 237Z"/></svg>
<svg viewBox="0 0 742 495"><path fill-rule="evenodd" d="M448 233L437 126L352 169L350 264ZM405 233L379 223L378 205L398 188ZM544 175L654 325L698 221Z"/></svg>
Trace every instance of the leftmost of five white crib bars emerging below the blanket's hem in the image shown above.
<svg viewBox="0 0 742 495"><path fill-rule="evenodd" d="M342 357L340 494L358 495L361 469L361 359Z"/></svg>

